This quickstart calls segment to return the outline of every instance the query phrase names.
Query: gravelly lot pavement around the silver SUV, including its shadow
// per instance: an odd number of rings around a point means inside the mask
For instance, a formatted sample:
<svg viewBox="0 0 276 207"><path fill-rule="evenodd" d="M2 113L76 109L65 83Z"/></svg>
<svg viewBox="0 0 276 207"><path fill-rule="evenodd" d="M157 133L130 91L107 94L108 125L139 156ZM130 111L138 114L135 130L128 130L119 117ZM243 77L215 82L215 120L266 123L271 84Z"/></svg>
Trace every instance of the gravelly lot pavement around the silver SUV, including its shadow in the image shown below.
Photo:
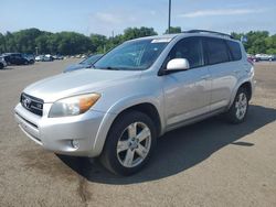
<svg viewBox="0 0 276 207"><path fill-rule="evenodd" d="M0 206L276 206L276 63L256 63L246 122L212 118L169 132L145 171L118 177L42 150L13 120L25 86L77 61L0 70Z"/></svg>

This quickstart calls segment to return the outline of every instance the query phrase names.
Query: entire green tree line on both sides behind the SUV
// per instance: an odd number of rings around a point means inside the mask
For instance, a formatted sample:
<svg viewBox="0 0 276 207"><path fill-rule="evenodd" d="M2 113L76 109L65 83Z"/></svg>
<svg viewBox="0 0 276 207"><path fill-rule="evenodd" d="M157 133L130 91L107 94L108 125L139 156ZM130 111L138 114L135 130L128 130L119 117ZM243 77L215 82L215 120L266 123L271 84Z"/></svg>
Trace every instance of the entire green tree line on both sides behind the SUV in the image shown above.
<svg viewBox="0 0 276 207"><path fill-rule="evenodd" d="M180 26L170 28L170 33L179 32L181 32ZM168 33L168 30L164 33ZM244 45L250 54L276 54L276 34L269 35L267 31L231 34L237 40L243 35L247 36ZM86 36L76 32L52 33L39 29L26 29L0 33L0 54L8 52L62 55L105 53L127 40L150 35L157 35L157 32L152 28L145 26L128 28L123 34L109 37L102 34Z"/></svg>

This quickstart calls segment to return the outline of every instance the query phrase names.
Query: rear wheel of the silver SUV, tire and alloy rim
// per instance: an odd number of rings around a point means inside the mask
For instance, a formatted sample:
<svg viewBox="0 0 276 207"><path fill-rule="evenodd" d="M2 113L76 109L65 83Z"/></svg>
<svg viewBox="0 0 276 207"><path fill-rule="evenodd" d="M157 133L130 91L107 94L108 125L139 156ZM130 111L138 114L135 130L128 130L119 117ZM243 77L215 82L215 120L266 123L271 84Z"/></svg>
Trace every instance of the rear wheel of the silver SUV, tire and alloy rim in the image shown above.
<svg viewBox="0 0 276 207"><path fill-rule="evenodd" d="M240 88L234 102L226 112L226 118L231 123L241 123L245 120L248 110L248 92L245 88Z"/></svg>

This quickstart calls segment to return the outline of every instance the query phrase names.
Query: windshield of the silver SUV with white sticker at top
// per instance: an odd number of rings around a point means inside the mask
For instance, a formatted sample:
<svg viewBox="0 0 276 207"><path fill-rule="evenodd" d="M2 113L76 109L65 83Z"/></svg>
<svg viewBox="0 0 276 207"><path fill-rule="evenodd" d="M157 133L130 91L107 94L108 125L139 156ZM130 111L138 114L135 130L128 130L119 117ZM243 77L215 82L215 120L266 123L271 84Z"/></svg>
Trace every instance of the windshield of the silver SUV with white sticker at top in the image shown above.
<svg viewBox="0 0 276 207"><path fill-rule="evenodd" d="M142 70L149 68L163 51L169 40L138 40L126 42L103 56L95 68Z"/></svg>

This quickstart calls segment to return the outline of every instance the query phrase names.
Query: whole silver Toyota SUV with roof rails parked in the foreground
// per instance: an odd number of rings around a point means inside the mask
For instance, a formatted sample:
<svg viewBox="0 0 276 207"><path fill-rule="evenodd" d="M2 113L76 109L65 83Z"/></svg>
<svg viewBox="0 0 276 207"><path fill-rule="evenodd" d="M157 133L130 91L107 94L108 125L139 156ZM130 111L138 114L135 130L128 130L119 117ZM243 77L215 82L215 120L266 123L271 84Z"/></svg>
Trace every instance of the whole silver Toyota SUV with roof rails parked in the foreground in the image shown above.
<svg viewBox="0 0 276 207"><path fill-rule="evenodd" d="M99 157L116 174L139 171L163 133L225 113L245 120L254 67L243 45L211 31L127 41L93 68L28 86L19 127L60 154Z"/></svg>

